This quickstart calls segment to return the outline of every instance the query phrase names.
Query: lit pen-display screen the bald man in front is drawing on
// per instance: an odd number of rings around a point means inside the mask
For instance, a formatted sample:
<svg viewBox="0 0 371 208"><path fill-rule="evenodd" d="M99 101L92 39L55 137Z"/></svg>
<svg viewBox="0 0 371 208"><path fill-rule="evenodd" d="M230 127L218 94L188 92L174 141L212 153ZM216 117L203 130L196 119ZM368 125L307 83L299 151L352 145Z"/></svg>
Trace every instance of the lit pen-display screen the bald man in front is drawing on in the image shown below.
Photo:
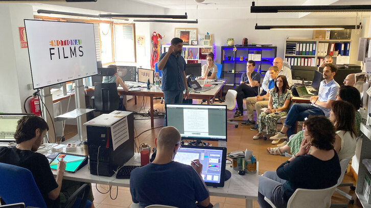
<svg viewBox="0 0 371 208"><path fill-rule="evenodd" d="M198 159L202 164L201 176L206 186L224 187L226 153L225 147L182 145L174 161L191 165L193 160Z"/></svg>

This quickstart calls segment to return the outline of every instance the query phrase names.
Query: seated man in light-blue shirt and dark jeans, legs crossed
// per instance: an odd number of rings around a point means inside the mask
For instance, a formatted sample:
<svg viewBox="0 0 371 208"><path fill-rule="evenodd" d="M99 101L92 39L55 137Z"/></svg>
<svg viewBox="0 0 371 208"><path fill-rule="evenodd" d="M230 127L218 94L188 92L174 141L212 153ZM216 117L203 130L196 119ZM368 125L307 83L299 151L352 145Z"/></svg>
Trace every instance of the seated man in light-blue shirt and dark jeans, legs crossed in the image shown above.
<svg viewBox="0 0 371 208"><path fill-rule="evenodd" d="M324 115L329 117L331 111L331 103L336 100L335 96L339 91L339 84L334 80L334 75L337 71L337 67L334 64L325 64L323 68L323 81L319 85L318 96L312 96L310 98L311 104L300 103L294 104L285 120L284 126L281 132L277 133L270 139L276 140L278 143L280 139L286 139L295 132L296 121L304 121L309 115ZM287 137L285 136L287 133Z"/></svg>

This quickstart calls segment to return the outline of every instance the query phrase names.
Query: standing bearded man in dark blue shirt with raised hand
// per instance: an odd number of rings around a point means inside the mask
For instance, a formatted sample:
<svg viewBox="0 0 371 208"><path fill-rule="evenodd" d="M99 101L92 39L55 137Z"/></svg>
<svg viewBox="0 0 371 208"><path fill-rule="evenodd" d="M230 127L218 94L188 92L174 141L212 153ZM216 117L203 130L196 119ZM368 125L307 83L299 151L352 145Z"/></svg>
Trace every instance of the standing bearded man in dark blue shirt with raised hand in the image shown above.
<svg viewBox="0 0 371 208"><path fill-rule="evenodd" d="M169 51L161 54L158 60L157 67L163 74L161 89L164 92L165 103L182 103L184 89L184 98L187 99L189 96L187 79L185 78L185 60L180 56L182 47L183 40L173 38ZM167 126L166 114L164 126Z"/></svg>

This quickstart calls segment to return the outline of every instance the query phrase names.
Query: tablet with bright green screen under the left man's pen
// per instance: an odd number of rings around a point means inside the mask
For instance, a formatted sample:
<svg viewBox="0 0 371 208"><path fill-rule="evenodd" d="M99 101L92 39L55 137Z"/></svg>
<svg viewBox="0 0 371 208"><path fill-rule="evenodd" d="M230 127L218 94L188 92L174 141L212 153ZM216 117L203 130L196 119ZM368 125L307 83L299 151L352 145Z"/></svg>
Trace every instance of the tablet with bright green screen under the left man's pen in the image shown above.
<svg viewBox="0 0 371 208"><path fill-rule="evenodd" d="M52 170L57 170L59 162L58 160L61 160L62 158L66 162L65 171L67 172L74 173L87 164L87 156L71 153L59 153L57 157L52 162L50 162L50 168Z"/></svg>

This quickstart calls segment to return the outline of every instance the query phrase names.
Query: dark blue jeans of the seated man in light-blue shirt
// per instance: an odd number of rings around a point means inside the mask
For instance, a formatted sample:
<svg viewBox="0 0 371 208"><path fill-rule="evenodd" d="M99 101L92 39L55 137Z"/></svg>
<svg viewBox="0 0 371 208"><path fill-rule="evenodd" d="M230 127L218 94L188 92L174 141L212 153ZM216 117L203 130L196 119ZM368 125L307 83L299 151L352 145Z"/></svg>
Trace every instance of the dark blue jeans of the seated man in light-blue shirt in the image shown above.
<svg viewBox="0 0 371 208"><path fill-rule="evenodd" d="M308 103L292 105L284 123L284 126L288 127L286 133L288 138L290 138L290 136L295 132L296 121L304 121L304 119L309 115L324 115L324 113L320 108Z"/></svg>

